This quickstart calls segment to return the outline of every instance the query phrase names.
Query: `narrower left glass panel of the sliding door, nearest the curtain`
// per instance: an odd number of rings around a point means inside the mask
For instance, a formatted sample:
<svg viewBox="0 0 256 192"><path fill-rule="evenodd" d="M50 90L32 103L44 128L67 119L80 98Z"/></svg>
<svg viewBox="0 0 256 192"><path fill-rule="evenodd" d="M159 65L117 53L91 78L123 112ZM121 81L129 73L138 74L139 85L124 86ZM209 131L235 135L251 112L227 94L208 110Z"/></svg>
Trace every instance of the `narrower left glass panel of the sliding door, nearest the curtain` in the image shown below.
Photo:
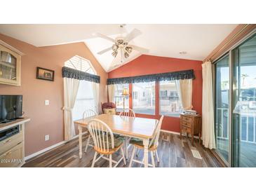
<svg viewBox="0 0 256 192"><path fill-rule="evenodd" d="M229 162L229 55L215 62L216 152Z"/></svg>

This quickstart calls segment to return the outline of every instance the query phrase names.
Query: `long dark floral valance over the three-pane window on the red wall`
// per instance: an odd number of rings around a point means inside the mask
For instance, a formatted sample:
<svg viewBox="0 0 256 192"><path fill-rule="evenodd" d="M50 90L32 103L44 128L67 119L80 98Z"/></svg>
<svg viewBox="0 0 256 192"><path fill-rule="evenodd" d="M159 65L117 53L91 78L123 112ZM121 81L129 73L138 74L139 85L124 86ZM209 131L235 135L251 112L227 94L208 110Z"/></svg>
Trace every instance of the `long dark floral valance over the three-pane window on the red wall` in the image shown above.
<svg viewBox="0 0 256 192"><path fill-rule="evenodd" d="M194 79L194 70L175 71L163 74L150 74L144 76L128 76L121 78L108 78L107 85L124 83L142 83L151 81L173 81L179 79Z"/></svg>

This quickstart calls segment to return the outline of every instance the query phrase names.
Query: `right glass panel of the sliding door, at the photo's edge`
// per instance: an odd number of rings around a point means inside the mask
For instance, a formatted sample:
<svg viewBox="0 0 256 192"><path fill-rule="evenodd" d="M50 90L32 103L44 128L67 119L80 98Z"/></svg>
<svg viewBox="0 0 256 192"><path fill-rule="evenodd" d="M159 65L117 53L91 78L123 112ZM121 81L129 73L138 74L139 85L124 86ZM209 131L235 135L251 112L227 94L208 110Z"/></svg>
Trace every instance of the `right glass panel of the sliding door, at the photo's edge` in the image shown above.
<svg viewBox="0 0 256 192"><path fill-rule="evenodd" d="M256 167L256 35L233 50L233 163Z"/></svg>

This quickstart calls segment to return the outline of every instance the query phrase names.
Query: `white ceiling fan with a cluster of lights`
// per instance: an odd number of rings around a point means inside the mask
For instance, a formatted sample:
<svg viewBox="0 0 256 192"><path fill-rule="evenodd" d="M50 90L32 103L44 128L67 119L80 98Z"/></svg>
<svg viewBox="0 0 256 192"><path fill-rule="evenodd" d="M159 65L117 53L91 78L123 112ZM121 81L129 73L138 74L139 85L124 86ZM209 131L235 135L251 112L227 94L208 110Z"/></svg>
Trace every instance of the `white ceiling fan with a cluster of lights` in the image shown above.
<svg viewBox="0 0 256 192"><path fill-rule="evenodd" d="M140 32L139 29L133 29L129 34L127 34L126 36L123 36L123 30L125 30L124 26L125 25L120 25L121 34L120 36L117 36L115 39L112 39L109 36L105 36L99 33L93 34L94 36L106 39L108 41L112 41L114 43L112 47L101 50L97 54L102 55L103 53L106 53L109 50L113 50L112 52L113 57L116 57L116 55L121 54L121 63L122 63L124 58L127 59L130 56L130 53L133 52L133 50L137 50L140 53L147 53L149 51L146 48L130 45L129 42L135 39L140 34L142 34L142 32Z"/></svg>

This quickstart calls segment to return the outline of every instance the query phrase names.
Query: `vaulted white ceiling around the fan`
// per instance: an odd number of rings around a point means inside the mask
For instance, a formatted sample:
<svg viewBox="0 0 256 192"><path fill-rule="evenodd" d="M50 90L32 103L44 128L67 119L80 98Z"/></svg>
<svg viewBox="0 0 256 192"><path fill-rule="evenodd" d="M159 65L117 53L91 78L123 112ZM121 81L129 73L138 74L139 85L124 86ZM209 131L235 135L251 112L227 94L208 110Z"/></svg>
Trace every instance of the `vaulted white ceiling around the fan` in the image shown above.
<svg viewBox="0 0 256 192"><path fill-rule="evenodd" d="M135 46L149 49L147 55L177 57L190 60L203 60L237 25L126 25L126 31L140 29L142 34L132 42ZM120 57L113 61L112 51L103 55L97 52L112 46L112 42L95 38L98 32L116 37L119 25L0 25L0 33L25 41L34 46L52 46L63 43L83 41L102 67L109 71L113 64L120 63ZM186 52L187 54L180 54ZM140 56L133 51L130 60ZM119 65L120 67L121 65Z"/></svg>

